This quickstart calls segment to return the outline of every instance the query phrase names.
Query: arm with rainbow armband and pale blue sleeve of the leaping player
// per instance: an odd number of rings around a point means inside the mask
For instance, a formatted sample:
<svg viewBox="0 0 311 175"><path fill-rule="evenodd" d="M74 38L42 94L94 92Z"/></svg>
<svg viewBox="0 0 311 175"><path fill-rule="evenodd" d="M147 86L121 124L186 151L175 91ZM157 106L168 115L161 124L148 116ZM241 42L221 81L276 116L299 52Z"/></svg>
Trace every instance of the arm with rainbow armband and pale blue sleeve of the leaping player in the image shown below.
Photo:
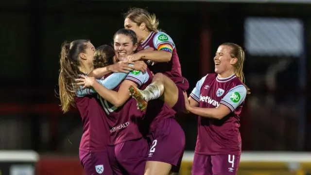
<svg viewBox="0 0 311 175"><path fill-rule="evenodd" d="M164 32L155 34L153 44L156 51L137 53L138 57L155 62L169 62L172 59L175 44L173 39Z"/></svg>

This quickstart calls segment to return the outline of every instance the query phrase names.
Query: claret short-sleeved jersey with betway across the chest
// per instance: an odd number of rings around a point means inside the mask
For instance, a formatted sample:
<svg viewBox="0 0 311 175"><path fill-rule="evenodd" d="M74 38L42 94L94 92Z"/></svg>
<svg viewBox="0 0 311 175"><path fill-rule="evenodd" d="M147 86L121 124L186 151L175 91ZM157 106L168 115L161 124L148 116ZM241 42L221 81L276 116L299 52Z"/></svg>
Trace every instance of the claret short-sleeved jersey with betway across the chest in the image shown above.
<svg viewBox="0 0 311 175"><path fill-rule="evenodd" d="M200 117L195 152L205 155L233 154L241 152L240 113L246 97L246 88L234 74L218 78L207 74L199 80L190 97L203 108L227 106L230 113L222 120Z"/></svg>

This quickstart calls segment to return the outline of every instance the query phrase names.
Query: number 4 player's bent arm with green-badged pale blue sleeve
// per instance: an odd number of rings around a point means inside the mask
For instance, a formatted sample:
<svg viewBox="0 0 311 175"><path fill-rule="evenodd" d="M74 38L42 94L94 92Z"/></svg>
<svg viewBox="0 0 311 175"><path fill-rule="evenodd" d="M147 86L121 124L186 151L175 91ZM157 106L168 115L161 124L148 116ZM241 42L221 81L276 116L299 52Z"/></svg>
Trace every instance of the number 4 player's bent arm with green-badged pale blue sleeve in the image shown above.
<svg viewBox="0 0 311 175"><path fill-rule="evenodd" d="M242 104L245 100L246 92L246 88L243 85L239 85L228 91L217 108L202 108L189 105L187 110L201 117L220 120Z"/></svg>

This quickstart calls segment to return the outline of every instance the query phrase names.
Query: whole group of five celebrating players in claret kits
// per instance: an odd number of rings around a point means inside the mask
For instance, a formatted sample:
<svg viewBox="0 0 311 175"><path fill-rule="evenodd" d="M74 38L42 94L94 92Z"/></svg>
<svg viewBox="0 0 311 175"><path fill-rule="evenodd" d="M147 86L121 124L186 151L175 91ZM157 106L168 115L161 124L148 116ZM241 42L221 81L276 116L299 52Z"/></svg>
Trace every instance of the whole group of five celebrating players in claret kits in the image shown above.
<svg viewBox="0 0 311 175"><path fill-rule="evenodd" d="M241 155L240 113L244 52L218 47L215 73L189 83L173 39L158 30L155 15L133 8L113 47L89 40L62 45L62 110L78 108L83 135L79 157L86 175L171 175L179 172L185 134L174 116L199 116L192 175L236 175Z"/></svg>

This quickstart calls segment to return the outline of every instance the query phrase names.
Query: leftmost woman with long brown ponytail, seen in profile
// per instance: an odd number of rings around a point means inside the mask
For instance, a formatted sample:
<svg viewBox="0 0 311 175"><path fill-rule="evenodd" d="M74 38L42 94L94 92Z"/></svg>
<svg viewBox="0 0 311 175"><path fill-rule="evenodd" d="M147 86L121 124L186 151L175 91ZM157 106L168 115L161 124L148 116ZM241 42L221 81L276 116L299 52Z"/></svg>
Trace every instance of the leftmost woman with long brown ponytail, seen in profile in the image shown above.
<svg viewBox="0 0 311 175"><path fill-rule="evenodd" d="M102 107L96 95L77 97L79 88L75 78L79 74L87 74L94 69L93 58L95 48L88 40L74 40L62 45L59 73L59 96L62 110L68 112L70 106L76 106L83 121L83 134L79 146L79 158L86 175L97 174L105 167L103 175L111 175L112 170L107 154L109 127ZM92 134L90 134L92 133Z"/></svg>

